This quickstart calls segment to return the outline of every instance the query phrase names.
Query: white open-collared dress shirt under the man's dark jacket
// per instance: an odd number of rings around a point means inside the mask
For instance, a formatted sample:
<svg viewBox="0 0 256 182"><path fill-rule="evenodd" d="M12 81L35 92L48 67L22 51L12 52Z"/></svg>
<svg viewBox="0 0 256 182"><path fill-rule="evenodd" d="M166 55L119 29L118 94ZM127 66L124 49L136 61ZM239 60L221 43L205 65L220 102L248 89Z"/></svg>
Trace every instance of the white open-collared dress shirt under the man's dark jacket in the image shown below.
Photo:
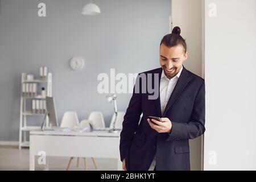
<svg viewBox="0 0 256 182"><path fill-rule="evenodd" d="M166 75L164 74L164 71L162 71L161 79L160 79L160 104L161 104L161 112L163 114L164 109L166 108L167 102L169 101L172 91L174 91L174 88L176 86L176 83L180 77L181 71L183 69L183 66L181 66L179 73L173 78L168 79ZM156 164L156 155L154 156L154 159L152 160L151 166L148 169L148 171L153 171Z"/></svg>

